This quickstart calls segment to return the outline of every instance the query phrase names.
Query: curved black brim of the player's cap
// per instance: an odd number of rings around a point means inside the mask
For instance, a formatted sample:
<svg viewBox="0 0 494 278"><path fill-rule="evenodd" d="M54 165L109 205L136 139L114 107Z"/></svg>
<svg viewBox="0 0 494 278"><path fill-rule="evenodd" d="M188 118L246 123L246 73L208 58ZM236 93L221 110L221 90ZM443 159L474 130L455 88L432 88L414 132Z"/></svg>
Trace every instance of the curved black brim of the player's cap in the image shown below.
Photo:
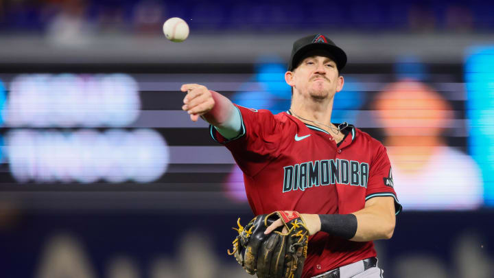
<svg viewBox="0 0 494 278"><path fill-rule="evenodd" d="M290 59L290 67L288 68L289 71L293 71L300 62L305 58L305 56L310 52L314 50L325 50L328 52L329 56L331 59L336 62L336 67L338 68L338 71L341 71L343 67L346 65L346 54L344 53L343 49L340 47L337 47L336 45L329 45L326 43L311 43L309 45L305 45L301 48L299 48L294 56Z"/></svg>

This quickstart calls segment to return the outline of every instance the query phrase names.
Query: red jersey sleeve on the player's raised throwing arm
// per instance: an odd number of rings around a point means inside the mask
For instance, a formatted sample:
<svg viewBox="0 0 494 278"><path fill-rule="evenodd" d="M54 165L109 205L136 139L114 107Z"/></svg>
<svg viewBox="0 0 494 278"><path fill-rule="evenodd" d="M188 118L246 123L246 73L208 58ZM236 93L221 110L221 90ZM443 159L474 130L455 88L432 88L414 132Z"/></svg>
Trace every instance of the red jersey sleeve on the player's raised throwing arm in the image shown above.
<svg viewBox="0 0 494 278"><path fill-rule="evenodd" d="M279 155L281 122L268 110L245 108L235 104L242 118L242 127L237 137L224 138L209 126L211 137L224 144L233 154L240 169L254 176Z"/></svg>

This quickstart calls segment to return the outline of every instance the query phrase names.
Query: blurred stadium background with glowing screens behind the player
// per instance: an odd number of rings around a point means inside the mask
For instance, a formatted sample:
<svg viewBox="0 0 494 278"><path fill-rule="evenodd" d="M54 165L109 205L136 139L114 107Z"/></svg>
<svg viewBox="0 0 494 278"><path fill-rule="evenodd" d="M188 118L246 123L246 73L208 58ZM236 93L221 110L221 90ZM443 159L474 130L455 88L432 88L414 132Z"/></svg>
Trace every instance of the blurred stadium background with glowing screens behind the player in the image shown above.
<svg viewBox="0 0 494 278"><path fill-rule="evenodd" d="M252 213L180 84L277 113L292 43L349 55L333 121L388 148L386 277L494 277L494 4L0 0L0 277L249 277ZM161 33L178 16L184 43Z"/></svg>

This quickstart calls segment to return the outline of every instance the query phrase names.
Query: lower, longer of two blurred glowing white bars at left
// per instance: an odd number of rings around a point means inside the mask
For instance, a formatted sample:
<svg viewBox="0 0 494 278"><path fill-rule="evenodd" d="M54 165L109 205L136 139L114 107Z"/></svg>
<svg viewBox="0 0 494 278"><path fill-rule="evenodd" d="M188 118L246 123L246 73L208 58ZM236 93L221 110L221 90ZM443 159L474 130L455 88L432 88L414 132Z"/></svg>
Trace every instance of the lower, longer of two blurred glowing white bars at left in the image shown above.
<svg viewBox="0 0 494 278"><path fill-rule="evenodd" d="M10 130L10 172L20 183L156 181L167 170L165 139L152 129Z"/></svg>

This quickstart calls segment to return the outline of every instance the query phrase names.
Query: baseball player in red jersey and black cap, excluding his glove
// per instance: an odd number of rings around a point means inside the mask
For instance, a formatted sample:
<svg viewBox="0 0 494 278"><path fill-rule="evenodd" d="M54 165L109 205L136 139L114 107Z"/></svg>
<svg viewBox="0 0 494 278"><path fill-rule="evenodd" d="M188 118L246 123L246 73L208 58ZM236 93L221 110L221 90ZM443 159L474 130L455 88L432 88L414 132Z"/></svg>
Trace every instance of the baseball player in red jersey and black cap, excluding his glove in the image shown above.
<svg viewBox="0 0 494 278"><path fill-rule="evenodd" d="M309 229L302 277L382 277L373 240L389 239L401 211L386 148L351 124L331 123L346 54L322 34L295 41L285 73L292 104L273 115L184 84L183 110L244 172L255 215L298 211ZM274 222L266 233L281 226Z"/></svg>

